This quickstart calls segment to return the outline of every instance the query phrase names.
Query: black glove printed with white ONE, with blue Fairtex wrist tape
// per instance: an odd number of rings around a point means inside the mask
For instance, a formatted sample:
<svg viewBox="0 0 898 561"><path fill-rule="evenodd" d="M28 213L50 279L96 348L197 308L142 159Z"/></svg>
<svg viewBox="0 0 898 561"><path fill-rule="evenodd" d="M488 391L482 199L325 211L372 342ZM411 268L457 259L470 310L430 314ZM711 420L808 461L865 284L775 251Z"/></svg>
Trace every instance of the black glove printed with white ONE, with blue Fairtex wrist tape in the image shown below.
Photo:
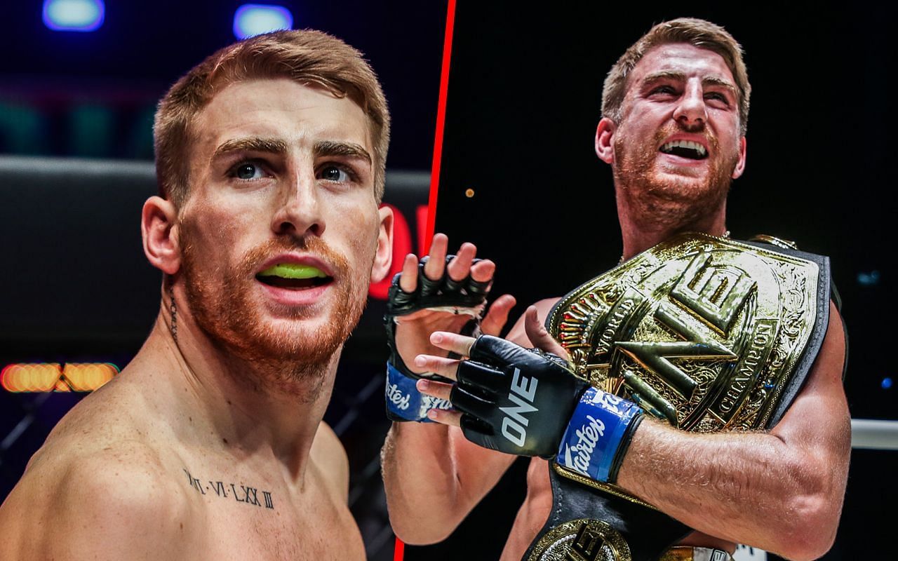
<svg viewBox="0 0 898 561"><path fill-rule="evenodd" d="M449 400L472 443L555 458L597 481L617 477L642 410L580 380L556 355L481 336L458 366Z"/></svg>

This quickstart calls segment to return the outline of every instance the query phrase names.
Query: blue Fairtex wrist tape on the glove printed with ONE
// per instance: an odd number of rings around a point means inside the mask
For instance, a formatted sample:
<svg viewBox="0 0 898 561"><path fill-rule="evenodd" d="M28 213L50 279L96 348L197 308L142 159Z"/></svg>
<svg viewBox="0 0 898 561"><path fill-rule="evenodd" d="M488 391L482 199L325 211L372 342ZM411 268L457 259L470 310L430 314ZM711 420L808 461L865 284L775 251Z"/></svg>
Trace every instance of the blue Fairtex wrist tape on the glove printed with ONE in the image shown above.
<svg viewBox="0 0 898 561"><path fill-rule="evenodd" d="M621 440L641 411L627 399L587 389L570 418L556 460L587 478L608 481Z"/></svg>

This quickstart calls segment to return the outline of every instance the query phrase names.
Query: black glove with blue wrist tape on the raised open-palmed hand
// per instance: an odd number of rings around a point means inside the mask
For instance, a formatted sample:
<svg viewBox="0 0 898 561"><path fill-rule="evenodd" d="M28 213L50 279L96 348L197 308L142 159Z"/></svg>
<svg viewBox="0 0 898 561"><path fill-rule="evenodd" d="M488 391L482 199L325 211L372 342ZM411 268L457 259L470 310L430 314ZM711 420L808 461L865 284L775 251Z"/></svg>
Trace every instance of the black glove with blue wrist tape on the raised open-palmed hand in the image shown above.
<svg viewBox="0 0 898 561"><path fill-rule="evenodd" d="M415 388L415 381L419 378L451 380L438 374L418 374L409 370L396 345L396 323L402 316L420 310L466 313L471 316L471 321L465 324L462 335L478 334L480 314L487 302L489 281L475 281L470 275L461 281L454 281L448 273L448 265L453 258L453 255L446 256L443 276L436 280L431 280L424 274L427 257L421 259L418 263L418 285L412 293L402 290L399 284L401 273L393 276L390 292L387 294L387 311L383 316L387 345L390 346L390 358L387 360L387 416L392 421L429 423L431 421L427 418L427 411L430 409L452 408L445 399L426 396ZM474 259L473 263L478 261L480 259Z"/></svg>

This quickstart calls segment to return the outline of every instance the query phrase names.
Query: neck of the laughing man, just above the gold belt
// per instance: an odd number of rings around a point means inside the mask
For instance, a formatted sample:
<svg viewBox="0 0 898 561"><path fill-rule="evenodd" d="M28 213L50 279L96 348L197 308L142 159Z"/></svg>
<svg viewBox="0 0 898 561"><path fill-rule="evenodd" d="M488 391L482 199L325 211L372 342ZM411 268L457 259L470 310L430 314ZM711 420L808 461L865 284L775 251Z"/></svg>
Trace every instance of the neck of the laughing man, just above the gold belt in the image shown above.
<svg viewBox="0 0 898 561"><path fill-rule="evenodd" d="M726 197L704 208L659 207L631 200L617 189L618 218L621 221L621 260L645 251L681 232L704 232L725 237Z"/></svg>

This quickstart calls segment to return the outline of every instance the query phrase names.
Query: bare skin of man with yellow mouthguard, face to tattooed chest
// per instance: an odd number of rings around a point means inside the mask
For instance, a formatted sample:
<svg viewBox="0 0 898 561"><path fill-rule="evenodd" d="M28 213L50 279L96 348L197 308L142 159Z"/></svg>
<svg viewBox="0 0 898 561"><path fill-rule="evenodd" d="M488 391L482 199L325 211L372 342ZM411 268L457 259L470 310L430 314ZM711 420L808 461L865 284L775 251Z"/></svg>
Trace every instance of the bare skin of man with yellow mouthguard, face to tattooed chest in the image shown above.
<svg viewBox="0 0 898 561"><path fill-rule="evenodd" d="M346 452L321 418L391 261L368 119L266 79L216 93L197 125L189 198L144 206L159 318L32 457L0 507L4 560L365 558ZM270 267L326 282L262 283Z"/></svg>

